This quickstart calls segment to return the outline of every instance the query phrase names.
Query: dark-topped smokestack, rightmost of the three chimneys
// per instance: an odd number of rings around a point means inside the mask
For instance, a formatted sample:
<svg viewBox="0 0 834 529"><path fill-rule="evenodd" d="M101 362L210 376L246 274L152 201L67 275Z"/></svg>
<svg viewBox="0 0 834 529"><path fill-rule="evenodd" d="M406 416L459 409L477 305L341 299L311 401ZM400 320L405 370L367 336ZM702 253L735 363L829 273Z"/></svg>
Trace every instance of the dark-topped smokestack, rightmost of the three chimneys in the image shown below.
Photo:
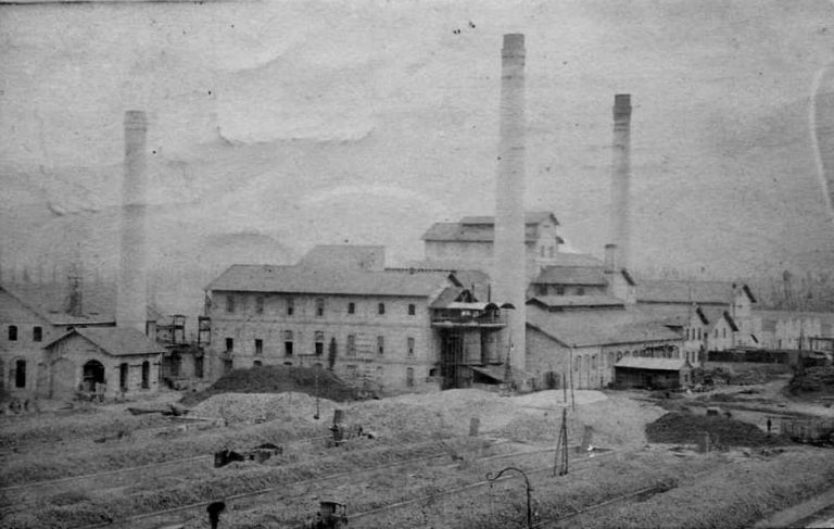
<svg viewBox="0 0 834 529"><path fill-rule="evenodd" d="M631 96L614 97L614 154L611 158L611 224L609 236L619 248L619 265L631 264L629 180L631 180Z"/></svg>

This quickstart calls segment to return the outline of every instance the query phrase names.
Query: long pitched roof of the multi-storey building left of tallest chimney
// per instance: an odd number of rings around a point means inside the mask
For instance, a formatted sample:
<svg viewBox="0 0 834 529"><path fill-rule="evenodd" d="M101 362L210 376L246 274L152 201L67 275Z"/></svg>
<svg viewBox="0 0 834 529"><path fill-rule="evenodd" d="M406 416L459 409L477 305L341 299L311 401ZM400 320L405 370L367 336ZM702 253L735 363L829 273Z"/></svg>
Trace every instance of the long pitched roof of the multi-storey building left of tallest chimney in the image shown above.
<svg viewBox="0 0 834 529"><path fill-rule="evenodd" d="M448 285L446 272L232 265L208 285L208 290L426 298Z"/></svg>

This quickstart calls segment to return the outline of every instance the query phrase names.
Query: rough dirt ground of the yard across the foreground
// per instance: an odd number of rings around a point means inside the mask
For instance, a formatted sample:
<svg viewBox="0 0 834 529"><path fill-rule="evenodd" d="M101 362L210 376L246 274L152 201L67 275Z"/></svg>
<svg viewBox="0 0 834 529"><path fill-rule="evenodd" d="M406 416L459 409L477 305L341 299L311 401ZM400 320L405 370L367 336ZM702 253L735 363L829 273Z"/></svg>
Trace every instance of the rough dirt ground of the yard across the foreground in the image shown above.
<svg viewBox="0 0 834 529"><path fill-rule="evenodd" d="M674 512L684 496L692 504L708 504L709 513L723 508L737 514L725 524L720 516L700 522L693 507L683 509L688 517L675 518L678 527L738 527L834 487L831 450L787 443L778 449L719 446L719 452L700 454L693 445L679 442L683 439L649 443L646 427L657 424L670 406L687 407L700 417L706 407L721 405L732 410L733 421L744 420L743 414L761 414L749 415L759 433L763 428L760 418L769 413L829 411L792 401L783 391L786 381L776 375L761 385L725 386L709 393L660 400L640 391L583 390L574 391L572 398L568 393L567 402L558 390L510 396L479 389L450 390L357 402L296 392L218 392L190 412L205 420L127 413L129 405L168 405L179 396L172 392L141 403L0 417L0 465L4 470L0 487L78 477L78 481L0 490L0 528L84 527L276 487L283 493L230 508L219 527L298 528L311 519L324 499L348 503L353 514L412 502L357 518L350 527L523 527L523 487L519 488L518 477L492 488L468 488L482 482L488 473L509 466L530 473L540 519L659 487L667 492L650 500L657 516ZM764 411L734 410L734 405ZM341 446L328 448L325 438L331 436L329 427L337 411L349 437ZM572 473L566 477L551 471L563 413L569 443L576 445L591 433L593 449L571 449ZM473 418L479 431L470 438ZM684 431L685 417L681 420L679 430ZM356 437L358 427L372 439ZM122 432L128 434L119 437ZM249 461L224 468L211 464L217 450L247 450L265 442L282 445L283 453L262 464ZM199 463L174 463L199 456L203 456ZM414 457L421 459L412 462ZM381 464L400 466L376 470ZM130 467L141 468L122 479L118 470ZM805 467L814 469L813 479L799 471ZM106 474L81 478L96 473ZM333 478L299 484L325 476ZM755 504L731 493L733 487L741 488L736 481L744 476L755 477L755 486L749 480L746 486L755 489ZM444 492L455 488L462 492ZM640 505L617 508L622 511L611 513L624 516L631 527L647 520ZM616 526L615 514L583 518L580 527ZM114 527L161 527L163 522L207 527L204 513L185 519L163 516L155 526L131 522Z"/></svg>

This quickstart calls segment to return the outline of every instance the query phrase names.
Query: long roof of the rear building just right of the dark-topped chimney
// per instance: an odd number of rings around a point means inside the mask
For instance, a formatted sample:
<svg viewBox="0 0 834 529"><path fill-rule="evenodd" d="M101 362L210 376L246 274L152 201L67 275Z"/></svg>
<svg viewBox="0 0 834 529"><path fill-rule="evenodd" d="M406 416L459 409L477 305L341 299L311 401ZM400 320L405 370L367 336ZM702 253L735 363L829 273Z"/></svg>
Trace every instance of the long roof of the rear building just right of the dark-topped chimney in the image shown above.
<svg viewBox="0 0 834 529"><path fill-rule="evenodd" d="M637 286L637 302L643 303L698 303L728 305L732 304L736 288L756 303L747 285L728 281L686 281L670 279L643 279Z"/></svg>

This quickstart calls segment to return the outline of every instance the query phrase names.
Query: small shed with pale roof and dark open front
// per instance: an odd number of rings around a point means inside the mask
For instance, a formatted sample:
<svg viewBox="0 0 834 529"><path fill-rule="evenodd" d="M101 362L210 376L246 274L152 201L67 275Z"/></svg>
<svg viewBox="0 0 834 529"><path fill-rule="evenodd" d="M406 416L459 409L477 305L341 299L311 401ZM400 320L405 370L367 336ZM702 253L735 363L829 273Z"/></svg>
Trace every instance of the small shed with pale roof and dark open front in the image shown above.
<svg viewBox="0 0 834 529"><path fill-rule="evenodd" d="M618 389L674 389L692 382L692 364L686 357L627 356L614 365L614 373Z"/></svg>

